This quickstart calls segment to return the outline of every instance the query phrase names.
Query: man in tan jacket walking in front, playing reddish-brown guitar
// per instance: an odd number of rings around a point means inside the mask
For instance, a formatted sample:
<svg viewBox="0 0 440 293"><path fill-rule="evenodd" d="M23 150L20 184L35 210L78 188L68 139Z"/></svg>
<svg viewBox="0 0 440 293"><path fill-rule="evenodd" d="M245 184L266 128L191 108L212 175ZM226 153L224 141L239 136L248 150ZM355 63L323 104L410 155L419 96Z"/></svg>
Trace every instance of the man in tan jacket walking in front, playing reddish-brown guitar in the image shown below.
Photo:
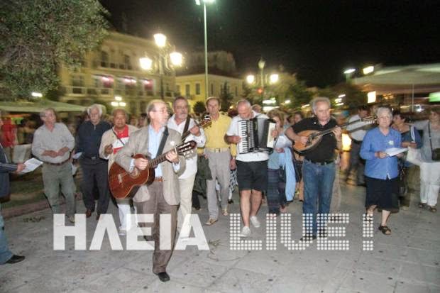
<svg viewBox="0 0 440 293"><path fill-rule="evenodd" d="M167 264L170 261L175 243L177 224L177 205L180 200L179 175L185 170L185 158L178 156L173 148L181 142L180 133L167 128L167 104L162 100L153 100L147 106L150 124L133 133L128 143L116 154L115 162L127 172L138 172L148 167L148 159L133 159L133 155L144 154L154 159L166 153L167 161L155 166L155 179L150 185L143 185L138 189L133 201L139 214L153 214L153 223L143 223L143 226L152 227L152 238L155 241L153 253L153 273L159 280L167 282ZM163 150L160 147L163 147ZM171 215L171 230L159 227L160 214ZM141 221L141 220L140 220ZM166 234L160 234L165 230ZM149 239L151 237L147 237ZM161 242L159 244L159 241ZM163 243L165 241L165 243ZM160 245L168 250L160 249Z"/></svg>

